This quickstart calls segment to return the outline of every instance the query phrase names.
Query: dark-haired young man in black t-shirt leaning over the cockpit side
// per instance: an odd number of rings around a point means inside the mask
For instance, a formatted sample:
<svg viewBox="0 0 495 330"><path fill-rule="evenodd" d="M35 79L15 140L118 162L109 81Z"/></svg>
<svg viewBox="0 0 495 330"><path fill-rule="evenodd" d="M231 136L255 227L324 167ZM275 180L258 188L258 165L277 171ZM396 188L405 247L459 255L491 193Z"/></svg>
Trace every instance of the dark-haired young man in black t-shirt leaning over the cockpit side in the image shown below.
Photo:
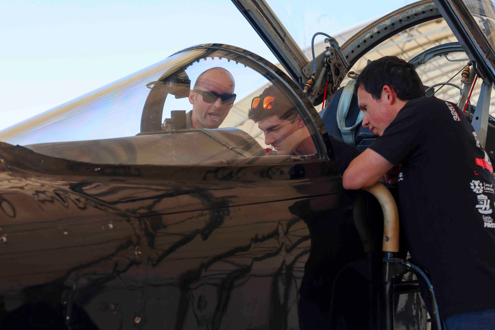
<svg viewBox="0 0 495 330"><path fill-rule="evenodd" d="M473 127L456 105L426 97L395 56L368 64L356 91L362 125L379 137L349 164L344 188L393 183L398 167L401 226L447 330L495 329L495 182Z"/></svg>

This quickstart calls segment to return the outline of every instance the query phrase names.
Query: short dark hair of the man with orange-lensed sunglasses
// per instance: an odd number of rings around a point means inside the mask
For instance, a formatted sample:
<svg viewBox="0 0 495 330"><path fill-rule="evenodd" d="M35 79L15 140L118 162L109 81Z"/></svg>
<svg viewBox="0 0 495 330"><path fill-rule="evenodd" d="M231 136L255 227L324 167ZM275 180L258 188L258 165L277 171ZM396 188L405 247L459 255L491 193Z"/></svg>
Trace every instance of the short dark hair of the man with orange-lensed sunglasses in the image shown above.
<svg viewBox="0 0 495 330"><path fill-rule="evenodd" d="M265 109L262 106L257 108L249 109L247 113L247 117L254 121L255 123L262 122L266 117L278 116L283 120L296 120L297 111L292 102L287 98L286 95L275 85L270 85L261 95L261 98L267 95L275 96L275 100L273 101L273 108Z"/></svg>

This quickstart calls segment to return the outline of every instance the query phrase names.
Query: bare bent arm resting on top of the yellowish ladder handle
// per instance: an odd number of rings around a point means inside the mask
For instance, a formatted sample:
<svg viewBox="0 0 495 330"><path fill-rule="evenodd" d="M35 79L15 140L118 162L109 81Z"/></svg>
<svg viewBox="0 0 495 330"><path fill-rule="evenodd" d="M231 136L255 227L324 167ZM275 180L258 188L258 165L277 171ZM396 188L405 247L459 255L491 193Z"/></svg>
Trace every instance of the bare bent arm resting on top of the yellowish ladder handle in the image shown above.
<svg viewBox="0 0 495 330"><path fill-rule="evenodd" d="M368 148L354 158L343 175L345 189L360 189L373 186L394 164L378 152Z"/></svg>

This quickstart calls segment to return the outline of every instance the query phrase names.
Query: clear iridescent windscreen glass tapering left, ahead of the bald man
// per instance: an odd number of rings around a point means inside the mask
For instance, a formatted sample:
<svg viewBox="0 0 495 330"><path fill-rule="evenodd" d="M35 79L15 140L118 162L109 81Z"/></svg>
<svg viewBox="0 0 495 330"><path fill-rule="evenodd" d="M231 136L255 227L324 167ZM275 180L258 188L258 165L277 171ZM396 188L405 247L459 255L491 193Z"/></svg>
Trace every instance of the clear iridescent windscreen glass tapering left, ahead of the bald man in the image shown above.
<svg viewBox="0 0 495 330"><path fill-rule="evenodd" d="M32 144L133 136L139 133L146 84L193 60L200 50L170 56L96 91L54 107L0 132L0 141ZM154 79L153 79L154 78ZM139 93L138 93L139 91Z"/></svg>

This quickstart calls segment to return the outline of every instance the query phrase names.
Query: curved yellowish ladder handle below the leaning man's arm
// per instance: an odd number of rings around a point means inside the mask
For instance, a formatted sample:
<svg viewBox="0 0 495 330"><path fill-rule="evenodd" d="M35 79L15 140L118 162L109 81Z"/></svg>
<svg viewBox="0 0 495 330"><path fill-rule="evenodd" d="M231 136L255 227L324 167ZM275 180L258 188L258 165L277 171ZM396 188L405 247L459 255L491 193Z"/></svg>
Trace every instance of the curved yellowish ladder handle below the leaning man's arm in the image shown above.
<svg viewBox="0 0 495 330"><path fill-rule="evenodd" d="M380 203L383 212L383 245L385 252L399 251L399 214L394 196L382 183L377 182L371 187L363 188Z"/></svg>

